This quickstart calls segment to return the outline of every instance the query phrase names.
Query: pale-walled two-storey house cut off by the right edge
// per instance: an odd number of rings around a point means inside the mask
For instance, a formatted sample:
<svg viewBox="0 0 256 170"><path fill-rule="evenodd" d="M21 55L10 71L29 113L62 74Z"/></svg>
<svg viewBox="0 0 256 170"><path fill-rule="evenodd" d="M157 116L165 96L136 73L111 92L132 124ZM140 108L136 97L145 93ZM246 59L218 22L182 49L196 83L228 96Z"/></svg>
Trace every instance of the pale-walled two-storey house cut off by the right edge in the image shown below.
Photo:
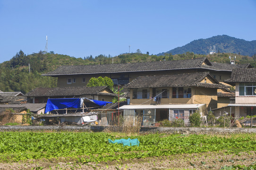
<svg viewBox="0 0 256 170"><path fill-rule="evenodd" d="M225 82L236 88L235 103L228 105L235 108L234 117L256 115L256 69L234 69Z"/></svg>

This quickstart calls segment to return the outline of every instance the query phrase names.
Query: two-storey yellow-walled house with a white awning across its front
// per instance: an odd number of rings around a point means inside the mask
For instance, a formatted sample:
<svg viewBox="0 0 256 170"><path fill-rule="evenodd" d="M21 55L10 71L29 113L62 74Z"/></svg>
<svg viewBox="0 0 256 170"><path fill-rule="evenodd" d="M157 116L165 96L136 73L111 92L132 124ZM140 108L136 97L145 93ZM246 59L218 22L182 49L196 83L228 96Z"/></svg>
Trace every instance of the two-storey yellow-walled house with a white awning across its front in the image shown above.
<svg viewBox="0 0 256 170"><path fill-rule="evenodd" d="M228 88L209 72L164 76L139 76L125 88L130 92L129 105L120 107L125 119L143 117L143 126L163 119L183 119L198 110L202 116L217 108L217 89Z"/></svg>

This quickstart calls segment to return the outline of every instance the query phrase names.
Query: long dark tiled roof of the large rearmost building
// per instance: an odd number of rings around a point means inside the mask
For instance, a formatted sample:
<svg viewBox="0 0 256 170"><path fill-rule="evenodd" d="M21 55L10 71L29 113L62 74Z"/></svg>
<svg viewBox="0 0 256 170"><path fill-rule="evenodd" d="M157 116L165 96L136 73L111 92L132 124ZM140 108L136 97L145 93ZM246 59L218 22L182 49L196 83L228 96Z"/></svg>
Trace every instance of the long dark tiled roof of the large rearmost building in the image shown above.
<svg viewBox="0 0 256 170"><path fill-rule="evenodd" d="M203 64L205 63L205 64ZM212 63L207 58L182 59L171 61L156 62L137 62L126 64L101 64L101 65L80 65L80 66L61 66L54 71L43 74L42 76L59 75L79 75L79 74L97 74L97 73L121 73L138 71L161 71L172 69L190 69L202 68L211 70L231 71L233 68L239 68L239 65ZM246 66L241 66L246 67Z"/></svg>

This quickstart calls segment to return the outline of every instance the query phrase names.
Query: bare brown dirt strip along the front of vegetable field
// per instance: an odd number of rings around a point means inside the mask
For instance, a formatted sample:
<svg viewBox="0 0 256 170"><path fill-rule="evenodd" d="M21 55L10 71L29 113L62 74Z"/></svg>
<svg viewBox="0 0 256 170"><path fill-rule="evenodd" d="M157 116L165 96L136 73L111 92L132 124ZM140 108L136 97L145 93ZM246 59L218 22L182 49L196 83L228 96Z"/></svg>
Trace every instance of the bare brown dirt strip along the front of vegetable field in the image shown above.
<svg viewBox="0 0 256 170"><path fill-rule="evenodd" d="M252 165L256 152L239 154L193 153L166 157L79 164L76 162L30 161L0 163L0 170L220 170L223 166Z"/></svg>

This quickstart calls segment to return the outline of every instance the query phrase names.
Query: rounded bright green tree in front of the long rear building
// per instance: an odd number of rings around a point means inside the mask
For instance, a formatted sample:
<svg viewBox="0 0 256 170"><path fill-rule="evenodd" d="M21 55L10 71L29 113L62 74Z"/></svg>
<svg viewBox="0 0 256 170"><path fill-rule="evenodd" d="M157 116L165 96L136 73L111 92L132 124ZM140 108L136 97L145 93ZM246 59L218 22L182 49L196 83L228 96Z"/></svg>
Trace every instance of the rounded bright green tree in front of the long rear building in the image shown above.
<svg viewBox="0 0 256 170"><path fill-rule="evenodd" d="M99 76L98 78L92 77L89 82L87 83L87 87L94 87L94 86L104 86L106 85L108 88L113 89L114 83L109 77L102 77Z"/></svg>

